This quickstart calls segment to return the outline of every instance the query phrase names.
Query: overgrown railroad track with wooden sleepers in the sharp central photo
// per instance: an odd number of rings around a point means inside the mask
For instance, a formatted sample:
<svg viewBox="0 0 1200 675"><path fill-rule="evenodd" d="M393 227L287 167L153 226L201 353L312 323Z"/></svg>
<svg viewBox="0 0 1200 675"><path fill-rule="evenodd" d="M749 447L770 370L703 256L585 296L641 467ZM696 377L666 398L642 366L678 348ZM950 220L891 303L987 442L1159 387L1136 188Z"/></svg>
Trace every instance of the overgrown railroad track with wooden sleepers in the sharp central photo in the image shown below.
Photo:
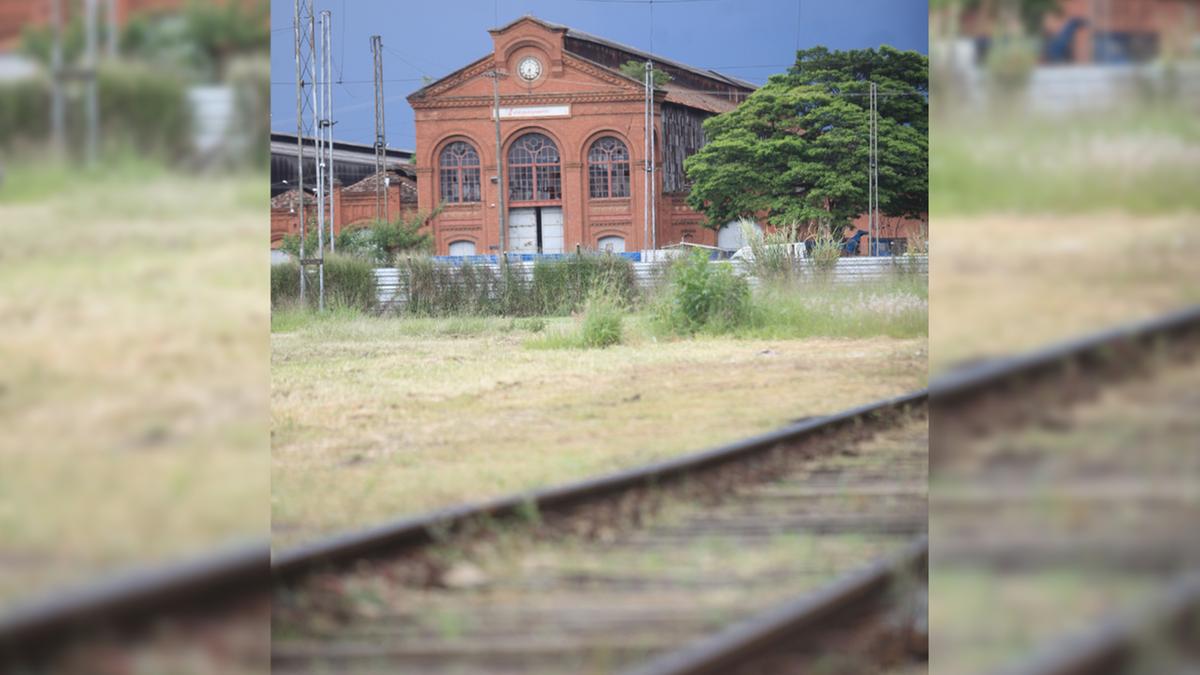
<svg viewBox="0 0 1200 675"><path fill-rule="evenodd" d="M792 616L780 634L840 617L836 644L863 646L776 657L923 668L924 402L281 555L272 671L700 673L668 668L673 652L738 626L761 637L762 613Z"/></svg>

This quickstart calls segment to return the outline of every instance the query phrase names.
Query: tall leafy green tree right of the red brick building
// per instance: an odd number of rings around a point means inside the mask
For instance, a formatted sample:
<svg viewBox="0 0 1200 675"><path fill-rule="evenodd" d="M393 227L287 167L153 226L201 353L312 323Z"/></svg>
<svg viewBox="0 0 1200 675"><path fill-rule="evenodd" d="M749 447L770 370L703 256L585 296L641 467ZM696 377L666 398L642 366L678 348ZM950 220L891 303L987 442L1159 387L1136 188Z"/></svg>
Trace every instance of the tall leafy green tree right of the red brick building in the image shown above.
<svg viewBox="0 0 1200 675"><path fill-rule="evenodd" d="M708 143L684 163L688 203L710 227L767 215L773 225L866 211L870 84L878 89L880 209L928 210L929 59L892 47L797 53L736 109L704 121Z"/></svg>

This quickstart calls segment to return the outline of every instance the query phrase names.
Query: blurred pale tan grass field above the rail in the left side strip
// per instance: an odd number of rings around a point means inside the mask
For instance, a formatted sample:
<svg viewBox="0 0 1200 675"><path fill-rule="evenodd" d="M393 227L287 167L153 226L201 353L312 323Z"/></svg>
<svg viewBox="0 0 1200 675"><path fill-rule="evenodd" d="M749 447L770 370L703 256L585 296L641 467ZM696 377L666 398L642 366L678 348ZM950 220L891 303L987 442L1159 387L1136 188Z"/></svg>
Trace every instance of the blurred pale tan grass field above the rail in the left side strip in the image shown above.
<svg viewBox="0 0 1200 675"><path fill-rule="evenodd" d="M266 177L6 173L0 608L265 534Z"/></svg>

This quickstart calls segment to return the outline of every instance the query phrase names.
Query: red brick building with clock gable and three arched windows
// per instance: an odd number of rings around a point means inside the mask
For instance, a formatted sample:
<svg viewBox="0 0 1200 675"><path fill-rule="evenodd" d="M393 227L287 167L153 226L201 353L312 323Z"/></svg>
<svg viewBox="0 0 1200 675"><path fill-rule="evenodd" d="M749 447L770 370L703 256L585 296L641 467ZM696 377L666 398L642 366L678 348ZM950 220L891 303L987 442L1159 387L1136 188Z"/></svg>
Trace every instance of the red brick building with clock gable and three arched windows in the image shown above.
<svg viewBox="0 0 1200 675"><path fill-rule="evenodd" d="M490 32L491 54L408 97L418 204L440 207L432 221L439 255L494 253L500 245L493 70L500 73L509 251L716 244L704 216L684 204L683 160L704 142L701 123L733 109L754 84L653 58L672 79L654 94L658 227L648 232L644 90L619 70L648 54L533 17Z"/></svg>

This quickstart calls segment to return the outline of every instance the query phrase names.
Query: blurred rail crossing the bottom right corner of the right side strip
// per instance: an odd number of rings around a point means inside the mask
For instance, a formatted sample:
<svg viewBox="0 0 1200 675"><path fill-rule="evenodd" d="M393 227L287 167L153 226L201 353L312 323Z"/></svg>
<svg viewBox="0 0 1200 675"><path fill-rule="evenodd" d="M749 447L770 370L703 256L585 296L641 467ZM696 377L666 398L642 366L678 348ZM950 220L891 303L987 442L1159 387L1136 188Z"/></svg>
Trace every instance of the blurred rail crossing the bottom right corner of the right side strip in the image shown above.
<svg viewBox="0 0 1200 675"><path fill-rule="evenodd" d="M1159 646L1154 634L1182 633L1200 639L1200 573L1177 578L1147 607L1103 621L1082 634L1044 647L1028 662L1001 670L1001 675L1116 675L1135 665L1139 647Z"/></svg>

